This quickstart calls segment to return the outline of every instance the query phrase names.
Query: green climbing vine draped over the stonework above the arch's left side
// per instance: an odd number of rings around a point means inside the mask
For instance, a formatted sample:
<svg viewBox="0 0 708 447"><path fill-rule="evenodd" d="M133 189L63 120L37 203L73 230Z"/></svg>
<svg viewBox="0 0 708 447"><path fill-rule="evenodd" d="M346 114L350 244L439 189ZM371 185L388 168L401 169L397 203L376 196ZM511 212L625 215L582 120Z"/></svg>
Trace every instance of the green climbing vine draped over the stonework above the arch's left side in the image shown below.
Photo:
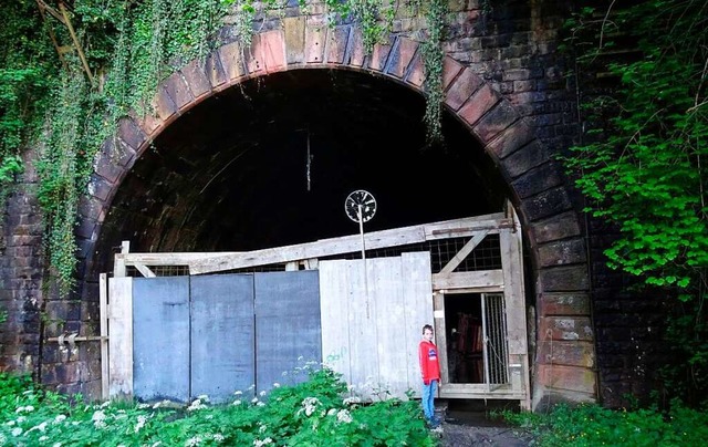
<svg viewBox="0 0 708 447"><path fill-rule="evenodd" d="M4 42L15 42L0 66L0 110L4 112L0 116L0 186L21 170L21 147L32 144L40 148L37 166L45 254L65 294L74 284L79 200L88 184L95 153L111 137L118 119L131 111L152 113L150 101L159 82L188 61L204 60L219 44L225 18L230 35L246 46L259 24L284 17L294 4L287 0L74 0L70 18L85 53L88 76L75 49L64 53L59 63L50 28L56 41L65 44L71 42L65 27L52 18L40 20L34 0L11 3L1 7L6 17L11 13L18 20L0 31ZM447 1L323 0L319 4L331 27L357 23L368 52L377 43L387 43L402 6L425 15L424 121L429 142L441 141L441 41ZM319 8L308 0L298 0L296 6L302 13Z"/></svg>

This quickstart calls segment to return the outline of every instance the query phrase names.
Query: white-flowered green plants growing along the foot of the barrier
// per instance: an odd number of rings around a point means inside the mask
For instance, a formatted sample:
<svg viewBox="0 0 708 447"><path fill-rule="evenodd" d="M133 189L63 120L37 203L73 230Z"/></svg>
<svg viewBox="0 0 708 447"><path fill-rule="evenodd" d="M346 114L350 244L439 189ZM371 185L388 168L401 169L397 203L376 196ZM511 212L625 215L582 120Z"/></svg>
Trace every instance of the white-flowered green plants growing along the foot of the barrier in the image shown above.
<svg viewBox="0 0 708 447"><path fill-rule="evenodd" d="M188 407L105 402L69 405L31 381L0 374L0 445L434 446L415 402L368 405L345 398L331 370L294 386L275 386L228 405L200 396ZM160 444L162 443L162 444Z"/></svg>

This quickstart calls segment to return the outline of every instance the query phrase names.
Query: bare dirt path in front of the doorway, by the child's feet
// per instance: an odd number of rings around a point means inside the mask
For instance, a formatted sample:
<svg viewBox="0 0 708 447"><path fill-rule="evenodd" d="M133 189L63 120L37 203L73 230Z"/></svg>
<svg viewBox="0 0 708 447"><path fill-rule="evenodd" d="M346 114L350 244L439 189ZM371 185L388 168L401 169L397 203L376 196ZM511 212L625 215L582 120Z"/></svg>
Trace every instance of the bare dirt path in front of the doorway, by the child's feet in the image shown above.
<svg viewBox="0 0 708 447"><path fill-rule="evenodd" d="M442 447L503 446L527 447L533 437L518 427L492 417L494 409L518 410L506 402L451 401L436 405L444 423L435 429Z"/></svg>

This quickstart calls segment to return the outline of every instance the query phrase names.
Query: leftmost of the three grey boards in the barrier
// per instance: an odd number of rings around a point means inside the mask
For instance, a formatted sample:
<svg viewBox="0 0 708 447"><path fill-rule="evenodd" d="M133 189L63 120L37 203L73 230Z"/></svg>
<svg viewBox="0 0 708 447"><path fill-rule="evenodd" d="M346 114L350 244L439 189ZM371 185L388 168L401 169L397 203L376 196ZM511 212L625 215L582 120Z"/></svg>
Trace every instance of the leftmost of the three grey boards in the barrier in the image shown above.
<svg viewBox="0 0 708 447"><path fill-rule="evenodd" d="M133 392L189 398L189 277L133 280Z"/></svg>

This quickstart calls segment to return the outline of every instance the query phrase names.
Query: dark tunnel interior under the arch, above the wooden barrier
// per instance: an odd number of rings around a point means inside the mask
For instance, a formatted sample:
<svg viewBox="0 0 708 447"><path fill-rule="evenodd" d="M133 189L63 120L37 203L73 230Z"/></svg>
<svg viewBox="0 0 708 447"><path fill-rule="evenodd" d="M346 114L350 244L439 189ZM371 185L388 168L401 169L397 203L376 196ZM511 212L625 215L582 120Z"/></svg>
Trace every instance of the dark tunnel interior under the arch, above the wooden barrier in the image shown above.
<svg viewBox="0 0 708 447"><path fill-rule="evenodd" d="M122 240L131 251L246 251L355 235L344 212L355 189L377 201L366 231L500 211L506 187L479 143L446 112L444 146L426 147L424 114L415 91L353 71L289 71L231 87L180 116L135 163L96 252Z"/></svg>

